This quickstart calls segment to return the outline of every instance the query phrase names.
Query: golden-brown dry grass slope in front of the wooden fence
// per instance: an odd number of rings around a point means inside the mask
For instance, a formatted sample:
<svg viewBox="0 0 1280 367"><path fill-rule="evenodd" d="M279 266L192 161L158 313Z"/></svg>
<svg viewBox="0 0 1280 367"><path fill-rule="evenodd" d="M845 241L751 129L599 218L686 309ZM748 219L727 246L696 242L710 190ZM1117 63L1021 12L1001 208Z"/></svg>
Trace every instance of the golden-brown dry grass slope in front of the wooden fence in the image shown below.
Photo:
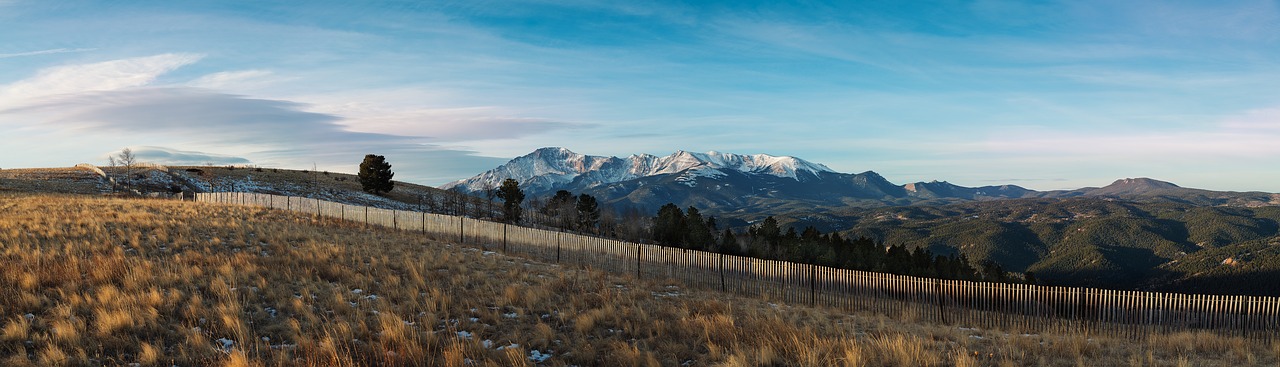
<svg viewBox="0 0 1280 367"><path fill-rule="evenodd" d="M1211 335L1024 336L774 306L173 201L0 196L0 269L4 366L521 366L541 354L545 366L1217 366L1280 353Z"/></svg>

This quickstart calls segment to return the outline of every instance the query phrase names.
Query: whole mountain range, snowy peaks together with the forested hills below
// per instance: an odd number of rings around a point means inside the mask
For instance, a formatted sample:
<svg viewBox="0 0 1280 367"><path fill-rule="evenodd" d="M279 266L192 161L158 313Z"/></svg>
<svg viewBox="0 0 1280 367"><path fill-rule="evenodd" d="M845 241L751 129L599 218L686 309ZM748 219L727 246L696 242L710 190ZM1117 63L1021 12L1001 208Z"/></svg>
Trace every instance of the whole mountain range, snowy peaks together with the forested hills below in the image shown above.
<svg viewBox="0 0 1280 367"><path fill-rule="evenodd" d="M1275 193L1151 178L1043 192L895 184L874 171L838 173L788 156L678 151L620 159L564 148L540 148L444 188L481 192L507 178L535 198L563 189L646 215L668 202L695 206L739 231L774 216L781 228L964 254L1059 285L1275 294L1280 281Z"/></svg>

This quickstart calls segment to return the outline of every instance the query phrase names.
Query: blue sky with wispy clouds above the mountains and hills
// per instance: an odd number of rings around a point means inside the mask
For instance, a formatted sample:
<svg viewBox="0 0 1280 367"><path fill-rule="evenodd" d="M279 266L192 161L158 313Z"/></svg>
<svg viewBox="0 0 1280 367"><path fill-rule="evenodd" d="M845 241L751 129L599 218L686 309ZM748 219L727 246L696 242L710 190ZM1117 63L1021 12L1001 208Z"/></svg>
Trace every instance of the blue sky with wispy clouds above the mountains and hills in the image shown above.
<svg viewBox="0 0 1280 367"><path fill-rule="evenodd" d="M0 169L539 147L1280 192L1280 1L0 0Z"/></svg>

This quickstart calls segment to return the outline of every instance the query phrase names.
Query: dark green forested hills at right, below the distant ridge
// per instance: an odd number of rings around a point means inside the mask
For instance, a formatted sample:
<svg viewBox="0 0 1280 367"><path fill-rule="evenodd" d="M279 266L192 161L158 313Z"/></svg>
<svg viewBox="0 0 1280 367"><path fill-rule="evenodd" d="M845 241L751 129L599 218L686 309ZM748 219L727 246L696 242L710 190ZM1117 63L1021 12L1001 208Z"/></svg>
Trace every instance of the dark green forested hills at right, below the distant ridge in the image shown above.
<svg viewBox="0 0 1280 367"><path fill-rule="evenodd" d="M845 214L845 237L925 247L1032 271L1048 284L1275 293L1280 207L1202 207L1102 198L1010 199ZM1235 279L1239 277L1239 279ZM1274 284L1274 283L1272 283Z"/></svg>

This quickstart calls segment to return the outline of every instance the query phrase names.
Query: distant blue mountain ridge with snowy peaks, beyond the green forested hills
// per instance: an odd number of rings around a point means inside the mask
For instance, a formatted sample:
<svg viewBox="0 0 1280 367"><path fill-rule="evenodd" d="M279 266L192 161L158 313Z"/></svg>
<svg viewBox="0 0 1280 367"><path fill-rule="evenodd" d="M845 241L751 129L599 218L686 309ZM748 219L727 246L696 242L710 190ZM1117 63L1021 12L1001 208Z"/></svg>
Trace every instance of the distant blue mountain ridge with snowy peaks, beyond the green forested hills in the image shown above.
<svg viewBox="0 0 1280 367"><path fill-rule="evenodd" d="M532 197L556 191L589 193L602 202L646 211L667 202L718 214L820 214L844 207L946 205L1012 198L1107 197L1202 206L1280 205L1280 194L1183 188L1149 178L1119 179L1101 188L1039 192L1014 184L961 187L947 182L895 184L874 171L837 173L791 156L677 151L625 159L539 148L445 189L483 192L503 179L521 183Z"/></svg>

